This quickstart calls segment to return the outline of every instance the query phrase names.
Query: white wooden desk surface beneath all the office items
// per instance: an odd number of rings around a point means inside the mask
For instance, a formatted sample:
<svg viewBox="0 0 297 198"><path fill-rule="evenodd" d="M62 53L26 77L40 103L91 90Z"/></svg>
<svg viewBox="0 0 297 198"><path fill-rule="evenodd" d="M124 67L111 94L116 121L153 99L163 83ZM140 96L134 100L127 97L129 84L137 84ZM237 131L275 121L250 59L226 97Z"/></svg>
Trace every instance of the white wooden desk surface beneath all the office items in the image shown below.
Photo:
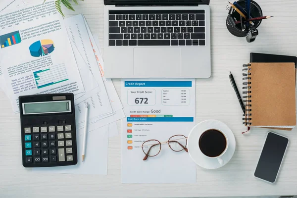
<svg viewBox="0 0 297 198"><path fill-rule="evenodd" d="M249 135L241 134L246 129L242 124L243 113L229 82L228 72L231 71L238 86L242 87L242 64L249 61L249 52L297 55L297 1L257 2L264 15L275 17L263 21L256 41L247 44L245 38L236 38L226 29L228 0L210 0L212 75L209 79L197 79L197 122L217 119L232 129L237 147L227 165L217 170L197 167L197 183L191 185L123 185L118 136L109 140L107 176L38 175L21 165L19 115L12 113L9 99L0 91L0 198L297 195L297 128L292 132L276 131L290 138L277 183L271 185L256 180L253 171L268 130L253 129ZM75 6L75 13L85 14L92 32L99 34L101 43L103 6L103 0L80 1L80 5ZM114 80L114 85L120 94L120 80ZM118 127L121 128L120 123Z"/></svg>

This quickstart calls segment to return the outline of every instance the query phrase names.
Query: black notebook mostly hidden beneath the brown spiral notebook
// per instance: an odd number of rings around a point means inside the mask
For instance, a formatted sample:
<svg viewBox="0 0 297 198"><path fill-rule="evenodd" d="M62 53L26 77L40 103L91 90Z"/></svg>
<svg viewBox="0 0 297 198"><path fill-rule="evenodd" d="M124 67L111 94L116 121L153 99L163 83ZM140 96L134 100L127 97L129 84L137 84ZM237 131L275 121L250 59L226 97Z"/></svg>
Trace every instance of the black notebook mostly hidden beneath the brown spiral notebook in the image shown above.
<svg viewBox="0 0 297 198"><path fill-rule="evenodd" d="M250 53L249 62L294 62L295 68L297 68L296 56Z"/></svg>

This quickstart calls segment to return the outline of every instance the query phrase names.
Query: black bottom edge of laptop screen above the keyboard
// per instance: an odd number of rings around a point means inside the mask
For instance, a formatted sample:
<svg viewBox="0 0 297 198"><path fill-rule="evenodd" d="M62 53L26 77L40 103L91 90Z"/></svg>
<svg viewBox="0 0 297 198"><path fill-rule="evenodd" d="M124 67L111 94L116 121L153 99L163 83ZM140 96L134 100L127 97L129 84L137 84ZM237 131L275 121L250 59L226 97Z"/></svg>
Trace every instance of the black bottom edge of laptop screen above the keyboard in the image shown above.
<svg viewBox="0 0 297 198"><path fill-rule="evenodd" d="M199 5L210 0L104 0L105 5Z"/></svg>

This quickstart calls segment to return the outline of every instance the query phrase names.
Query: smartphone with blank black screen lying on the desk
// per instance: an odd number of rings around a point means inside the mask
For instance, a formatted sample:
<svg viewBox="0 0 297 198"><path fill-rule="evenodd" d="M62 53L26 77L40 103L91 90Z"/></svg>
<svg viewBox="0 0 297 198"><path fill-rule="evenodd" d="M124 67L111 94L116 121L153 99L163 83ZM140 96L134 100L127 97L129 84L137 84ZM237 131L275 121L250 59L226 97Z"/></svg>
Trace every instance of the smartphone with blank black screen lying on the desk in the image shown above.
<svg viewBox="0 0 297 198"><path fill-rule="evenodd" d="M282 164L289 139L273 132L268 132L254 173L258 179L275 183Z"/></svg>

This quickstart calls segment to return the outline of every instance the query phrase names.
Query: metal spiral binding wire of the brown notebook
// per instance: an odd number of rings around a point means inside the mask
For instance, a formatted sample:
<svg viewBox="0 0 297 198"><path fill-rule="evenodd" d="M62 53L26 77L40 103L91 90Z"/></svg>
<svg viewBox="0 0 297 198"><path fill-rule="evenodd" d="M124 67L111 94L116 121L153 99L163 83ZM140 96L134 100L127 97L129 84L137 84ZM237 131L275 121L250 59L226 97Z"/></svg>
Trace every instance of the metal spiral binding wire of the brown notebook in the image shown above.
<svg viewBox="0 0 297 198"><path fill-rule="evenodd" d="M251 125L251 118L247 117L247 116L251 116L251 104L250 104L250 102L251 102L251 95L250 95L251 94L251 91L250 91L251 82L248 82L248 80L251 79L250 78L251 73L250 73L250 69L248 68L248 66L250 66L250 64L243 65L243 67L244 67L243 80L245 81L245 82L243 82L243 85L244 85L243 89L249 90L249 91L243 91L243 94L246 95L243 97L244 98L243 102L247 102L245 104L245 106L248 107L248 108L246 108L246 113L243 114L243 116L244 116L243 124L245 124L245 125ZM249 102L249 104L248 104L248 102Z"/></svg>

